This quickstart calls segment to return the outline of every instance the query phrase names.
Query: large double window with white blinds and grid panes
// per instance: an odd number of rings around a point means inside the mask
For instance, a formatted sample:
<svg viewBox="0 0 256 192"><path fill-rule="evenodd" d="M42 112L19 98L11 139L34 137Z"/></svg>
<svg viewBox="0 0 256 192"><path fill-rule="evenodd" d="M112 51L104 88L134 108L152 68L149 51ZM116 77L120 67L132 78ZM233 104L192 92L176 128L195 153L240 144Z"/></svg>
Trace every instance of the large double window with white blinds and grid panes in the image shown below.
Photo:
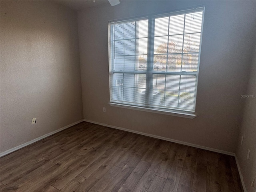
<svg viewBox="0 0 256 192"><path fill-rule="evenodd" d="M194 114L203 15L204 7L109 22L110 104Z"/></svg>

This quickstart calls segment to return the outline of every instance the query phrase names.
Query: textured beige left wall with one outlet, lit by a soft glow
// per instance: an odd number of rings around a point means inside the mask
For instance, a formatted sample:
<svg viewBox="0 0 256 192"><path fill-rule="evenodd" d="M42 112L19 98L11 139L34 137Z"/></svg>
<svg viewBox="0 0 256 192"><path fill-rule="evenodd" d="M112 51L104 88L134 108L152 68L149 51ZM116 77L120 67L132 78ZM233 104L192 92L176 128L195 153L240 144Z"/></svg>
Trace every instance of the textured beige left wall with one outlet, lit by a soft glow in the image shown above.
<svg viewBox="0 0 256 192"><path fill-rule="evenodd" d="M1 1L1 152L83 118L77 28L54 2Z"/></svg>

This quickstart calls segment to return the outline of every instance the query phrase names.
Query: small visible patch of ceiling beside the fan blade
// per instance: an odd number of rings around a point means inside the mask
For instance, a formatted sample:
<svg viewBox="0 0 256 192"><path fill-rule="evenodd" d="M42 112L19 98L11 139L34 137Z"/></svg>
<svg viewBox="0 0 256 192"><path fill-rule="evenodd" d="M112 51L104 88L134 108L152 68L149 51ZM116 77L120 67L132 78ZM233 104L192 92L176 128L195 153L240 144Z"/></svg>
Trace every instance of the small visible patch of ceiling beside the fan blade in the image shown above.
<svg viewBox="0 0 256 192"><path fill-rule="evenodd" d="M58 4L62 4L64 6L68 6L73 10L83 10L94 6L101 6L109 4L108 0L55 0ZM111 6L109 4L109 6Z"/></svg>

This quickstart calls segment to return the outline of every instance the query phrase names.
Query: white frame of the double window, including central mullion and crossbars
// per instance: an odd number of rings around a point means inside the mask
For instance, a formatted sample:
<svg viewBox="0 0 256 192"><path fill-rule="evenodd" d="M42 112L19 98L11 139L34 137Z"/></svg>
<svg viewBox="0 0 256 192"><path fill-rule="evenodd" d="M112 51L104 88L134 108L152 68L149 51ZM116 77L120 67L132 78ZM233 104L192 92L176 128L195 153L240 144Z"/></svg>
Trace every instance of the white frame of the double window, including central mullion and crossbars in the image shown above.
<svg viewBox="0 0 256 192"><path fill-rule="evenodd" d="M199 12L202 11L202 24L201 24L201 32L200 32L200 45L199 45L199 52L198 52L198 70L196 72L174 72L174 71L154 71L153 70L153 62L154 60L154 21L156 18L163 18L163 17L170 17L174 15L180 15L180 14L189 14L193 12ZM146 105L145 106L140 106L140 105L129 105L127 102L122 103L122 102L111 102L111 78L109 78L109 88L110 88L110 106L115 106L115 107L121 107L121 108L128 108L128 109L134 109L134 110L142 110L142 111L147 111L147 112L154 112L154 113L159 113L159 114L167 114L167 115L172 115L172 116L179 116L179 117L185 117L185 118L195 118L196 117L196 97L197 97L197 88L198 88L198 73L199 73L199 65L200 65L200 54L201 54L201 45L202 45L202 32L203 32L203 24L204 24L204 11L205 11L205 6L197 6L193 8L188 8L186 10L176 10L172 12L165 12L165 13L160 13L160 14L150 14L148 16L139 16L139 17L133 17L133 18L128 18L128 19L120 19L120 20L112 20L108 22L108 54L109 54L109 77L114 74L114 73L120 73L120 74L145 74L146 75L146 93L145 93L145 100L146 100ZM113 34L110 33L111 31L111 24L119 24L119 23L125 23L125 22L136 22L140 20L148 20L148 33L147 33L147 38L148 38L148 52L147 52L147 70L115 70L114 72L111 71L111 65L112 65L112 56L114 54L111 54L112 48L110 46L113 46L111 41L111 36ZM185 26L185 21L184 21L184 26ZM183 32L183 38L184 38L185 33ZM169 36L169 34L168 34ZM153 41L153 43L152 43ZM184 40L183 40L184 41ZM111 44L111 45L110 45ZM151 46L153 45L153 46ZM183 51L182 51L183 52ZM167 53L168 54L168 53ZM184 54L184 53L182 53ZM196 76L196 82L195 82L195 101L194 101L194 111L188 111L188 110L179 110L179 109L167 109L167 108L150 108L147 107L147 103L150 103L150 97L152 96L152 81L153 81L153 75L154 74L165 74L165 75L193 75ZM180 84L180 83L179 83Z"/></svg>

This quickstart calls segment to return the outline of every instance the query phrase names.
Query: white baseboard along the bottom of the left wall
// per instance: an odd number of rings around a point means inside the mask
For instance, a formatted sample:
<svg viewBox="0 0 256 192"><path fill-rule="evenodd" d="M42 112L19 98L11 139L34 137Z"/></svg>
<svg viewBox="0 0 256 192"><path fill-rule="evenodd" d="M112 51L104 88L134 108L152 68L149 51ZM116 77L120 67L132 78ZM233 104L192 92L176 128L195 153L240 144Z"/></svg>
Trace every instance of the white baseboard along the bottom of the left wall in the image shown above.
<svg viewBox="0 0 256 192"><path fill-rule="evenodd" d="M74 123L72 123L72 124L69 124L69 125L67 125L67 126L64 126L64 127L60 128L60 129L58 129L58 130L55 130L55 131L53 131L53 132L50 132L50 133L45 134L45 135L43 135L43 136L40 136L40 137L38 137L38 138L36 138L36 139L33 139L33 140L29 141L29 142L26 142L26 143L24 143L24 144L21 144L21 145L19 145L19 146L16 146L16 147L12 148L12 149L9 149L9 150L7 150L7 151L4 151L4 152L0 153L0 157L5 156L5 155L8 155L8 154L10 154L10 153L12 153L12 152L14 152L14 151L16 151L16 150L19 150L19 149L21 149L21 148L24 148L24 147L26 147L26 146L28 146L28 145L34 143L34 142L37 142L37 141L39 141L39 140L42 140L42 139L44 139L44 138L46 138L46 137L48 137L48 136L51 136L51 135L53 135L53 134L55 134L55 133L58 133L58 132L62 131L62 130L64 130L64 129L70 128L70 127L72 127L72 126L74 126L74 125L76 125L76 124L78 124L78 123L80 123L80 122L83 122L83 121L84 121L84 120L81 119L81 120L79 120L79 121L77 121L77 122L74 122Z"/></svg>

